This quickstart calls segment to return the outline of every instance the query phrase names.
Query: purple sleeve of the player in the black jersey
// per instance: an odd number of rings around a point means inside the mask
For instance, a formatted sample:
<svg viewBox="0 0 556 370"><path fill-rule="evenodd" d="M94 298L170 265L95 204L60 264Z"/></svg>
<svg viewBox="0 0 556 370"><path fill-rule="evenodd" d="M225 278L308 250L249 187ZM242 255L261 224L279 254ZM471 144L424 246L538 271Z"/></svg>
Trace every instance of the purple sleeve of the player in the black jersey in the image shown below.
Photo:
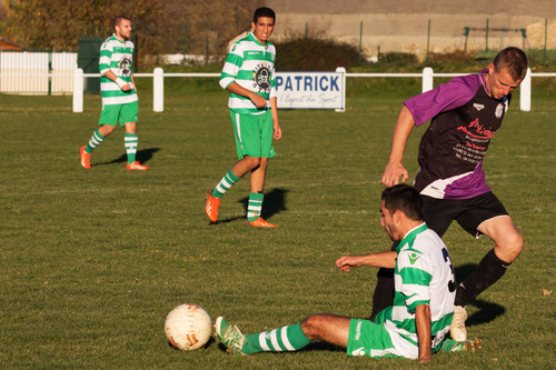
<svg viewBox="0 0 556 370"><path fill-rule="evenodd" d="M423 124L440 112L453 110L468 102L480 86L479 74L456 77L448 83L404 101L415 120Z"/></svg>

